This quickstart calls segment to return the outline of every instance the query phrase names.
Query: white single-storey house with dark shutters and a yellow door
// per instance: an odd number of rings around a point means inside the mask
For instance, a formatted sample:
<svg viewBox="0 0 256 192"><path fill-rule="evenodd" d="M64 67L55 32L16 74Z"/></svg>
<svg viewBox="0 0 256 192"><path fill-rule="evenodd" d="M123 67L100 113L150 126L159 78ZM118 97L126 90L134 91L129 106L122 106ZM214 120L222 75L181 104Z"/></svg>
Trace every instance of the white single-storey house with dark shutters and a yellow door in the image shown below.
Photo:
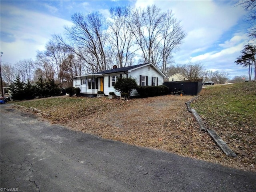
<svg viewBox="0 0 256 192"><path fill-rule="evenodd" d="M108 95L109 92L115 92L117 96L120 96L120 93L114 89L114 84L118 77L126 78L130 76L135 78L140 86L162 85L164 77L166 77L154 64L144 63L122 68L117 68L114 65L113 69L76 76L72 80L73 86L80 88L81 94L85 96L94 97L98 91L103 91L105 95ZM138 92L132 90L131 96L136 95L138 95Z"/></svg>

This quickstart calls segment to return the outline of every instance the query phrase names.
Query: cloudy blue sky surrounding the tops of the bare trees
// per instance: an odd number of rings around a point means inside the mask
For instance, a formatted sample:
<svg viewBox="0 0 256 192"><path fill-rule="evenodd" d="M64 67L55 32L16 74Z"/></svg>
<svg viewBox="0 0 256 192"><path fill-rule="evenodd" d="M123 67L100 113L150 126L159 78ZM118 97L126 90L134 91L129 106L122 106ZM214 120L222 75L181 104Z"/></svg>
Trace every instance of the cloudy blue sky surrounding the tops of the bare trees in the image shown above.
<svg viewBox="0 0 256 192"><path fill-rule="evenodd" d="M176 51L176 64L201 62L208 70L248 76L248 69L234 61L248 43L245 12L236 1L194 0L112 0L112 1L0 1L1 60L15 64L22 59L33 60L37 50L44 50L52 34L70 26L76 12L99 11L106 18L109 9L129 4L144 8L156 4L163 11L172 10L187 33ZM255 44L255 41L251 43Z"/></svg>

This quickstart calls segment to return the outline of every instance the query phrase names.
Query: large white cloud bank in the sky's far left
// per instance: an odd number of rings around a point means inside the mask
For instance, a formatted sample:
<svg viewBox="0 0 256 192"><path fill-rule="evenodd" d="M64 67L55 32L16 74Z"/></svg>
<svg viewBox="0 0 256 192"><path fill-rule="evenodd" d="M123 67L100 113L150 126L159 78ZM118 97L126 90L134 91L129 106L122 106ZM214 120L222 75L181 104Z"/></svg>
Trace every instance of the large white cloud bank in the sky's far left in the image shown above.
<svg viewBox="0 0 256 192"><path fill-rule="evenodd" d="M1 33L12 39L1 38L2 60L15 63L28 57L35 58L36 51L44 48L52 34L62 33L63 26L71 24L47 14L4 5L1 7Z"/></svg>

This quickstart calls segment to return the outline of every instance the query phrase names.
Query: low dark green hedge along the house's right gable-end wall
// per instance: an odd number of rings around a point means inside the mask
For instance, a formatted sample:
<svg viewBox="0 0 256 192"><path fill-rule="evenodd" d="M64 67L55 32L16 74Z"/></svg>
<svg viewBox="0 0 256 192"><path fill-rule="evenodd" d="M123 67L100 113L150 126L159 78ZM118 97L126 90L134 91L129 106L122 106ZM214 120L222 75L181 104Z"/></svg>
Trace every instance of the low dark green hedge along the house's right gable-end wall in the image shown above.
<svg viewBox="0 0 256 192"><path fill-rule="evenodd" d="M159 86L138 86L136 88L141 98L168 95L169 88L164 85Z"/></svg>

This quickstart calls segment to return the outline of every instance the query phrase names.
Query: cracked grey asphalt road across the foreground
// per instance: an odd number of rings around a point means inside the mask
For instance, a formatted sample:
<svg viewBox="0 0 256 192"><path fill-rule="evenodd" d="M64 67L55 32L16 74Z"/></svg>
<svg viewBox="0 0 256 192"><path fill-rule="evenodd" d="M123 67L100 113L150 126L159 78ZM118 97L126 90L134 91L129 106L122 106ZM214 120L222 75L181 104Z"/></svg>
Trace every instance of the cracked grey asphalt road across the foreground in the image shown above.
<svg viewBox="0 0 256 192"><path fill-rule="evenodd" d="M256 173L105 140L4 106L2 191L256 191Z"/></svg>

